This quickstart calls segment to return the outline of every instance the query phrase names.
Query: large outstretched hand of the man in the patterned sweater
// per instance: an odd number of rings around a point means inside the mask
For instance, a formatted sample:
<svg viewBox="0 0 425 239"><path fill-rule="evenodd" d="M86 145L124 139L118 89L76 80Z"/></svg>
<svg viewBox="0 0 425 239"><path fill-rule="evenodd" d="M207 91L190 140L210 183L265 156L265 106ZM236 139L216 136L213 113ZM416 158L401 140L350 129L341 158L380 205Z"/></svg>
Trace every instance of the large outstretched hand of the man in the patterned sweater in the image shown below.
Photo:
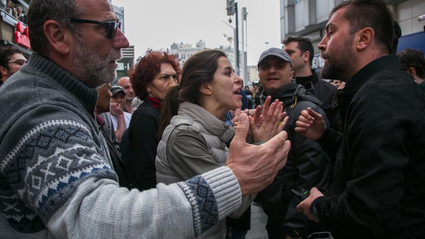
<svg viewBox="0 0 425 239"><path fill-rule="evenodd" d="M248 128L248 116L242 113L227 158L227 166L238 179L242 196L258 193L268 186L285 166L291 148L286 131L260 146L247 144Z"/></svg>

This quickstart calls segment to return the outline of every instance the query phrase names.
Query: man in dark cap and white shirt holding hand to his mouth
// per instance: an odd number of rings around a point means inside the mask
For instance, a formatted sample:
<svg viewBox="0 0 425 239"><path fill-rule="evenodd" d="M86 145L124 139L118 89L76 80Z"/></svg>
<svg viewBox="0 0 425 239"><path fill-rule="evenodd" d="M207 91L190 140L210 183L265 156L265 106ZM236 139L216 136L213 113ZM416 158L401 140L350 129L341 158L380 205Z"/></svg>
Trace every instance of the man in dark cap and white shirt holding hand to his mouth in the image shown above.
<svg viewBox="0 0 425 239"><path fill-rule="evenodd" d="M124 131L130 125L131 114L123 110L126 100L124 88L119 85L113 85L110 91L112 92L111 111L107 114L111 117L116 139L120 142Z"/></svg>

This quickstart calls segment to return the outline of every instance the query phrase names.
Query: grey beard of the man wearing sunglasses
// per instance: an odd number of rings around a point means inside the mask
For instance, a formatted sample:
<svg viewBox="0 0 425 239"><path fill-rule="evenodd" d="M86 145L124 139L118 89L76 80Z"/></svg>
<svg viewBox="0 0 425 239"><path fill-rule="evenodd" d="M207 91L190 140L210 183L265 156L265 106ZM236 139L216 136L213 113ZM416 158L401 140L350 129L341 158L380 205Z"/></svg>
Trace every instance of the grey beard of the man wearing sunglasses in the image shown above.
<svg viewBox="0 0 425 239"><path fill-rule="evenodd" d="M89 49L83 41L76 40L74 64L78 70L78 77L91 88L98 88L104 84L112 83L116 78L115 66L111 61L121 58L121 51L113 51L103 59L96 54L96 50Z"/></svg>

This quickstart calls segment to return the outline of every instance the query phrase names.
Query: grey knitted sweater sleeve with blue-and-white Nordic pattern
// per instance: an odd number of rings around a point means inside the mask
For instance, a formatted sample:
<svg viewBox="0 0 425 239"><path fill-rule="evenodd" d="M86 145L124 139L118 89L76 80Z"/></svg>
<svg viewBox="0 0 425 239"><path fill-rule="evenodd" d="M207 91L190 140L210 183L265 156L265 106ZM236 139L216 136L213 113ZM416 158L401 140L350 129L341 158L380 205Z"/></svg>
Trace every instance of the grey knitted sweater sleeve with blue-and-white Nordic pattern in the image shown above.
<svg viewBox="0 0 425 239"><path fill-rule="evenodd" d="M146 192L120 188L95 121L62 107L37 107L7 132L0 176L16 228L38 219L57 238L193 238L241 203L225 193L240 192L225 166Z"/></svg>

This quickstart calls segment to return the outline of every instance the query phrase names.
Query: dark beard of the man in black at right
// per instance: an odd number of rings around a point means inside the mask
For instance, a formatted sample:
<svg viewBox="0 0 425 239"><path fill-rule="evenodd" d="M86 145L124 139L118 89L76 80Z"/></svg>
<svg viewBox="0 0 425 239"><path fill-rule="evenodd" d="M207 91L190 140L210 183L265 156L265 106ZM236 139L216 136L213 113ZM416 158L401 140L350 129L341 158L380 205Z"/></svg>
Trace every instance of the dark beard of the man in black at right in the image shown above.
<svg viewBox="0 0 425 239"><path fill-rule="evenodd" d="M350 48L351 40L351 38L347 39L343 44L344 49L340 50L334 56L322 53L322 57L327 60L326 64L320 69L320 76L323 79L346 82L352 76L352 65L357 64L358 59Z"/></svg>

